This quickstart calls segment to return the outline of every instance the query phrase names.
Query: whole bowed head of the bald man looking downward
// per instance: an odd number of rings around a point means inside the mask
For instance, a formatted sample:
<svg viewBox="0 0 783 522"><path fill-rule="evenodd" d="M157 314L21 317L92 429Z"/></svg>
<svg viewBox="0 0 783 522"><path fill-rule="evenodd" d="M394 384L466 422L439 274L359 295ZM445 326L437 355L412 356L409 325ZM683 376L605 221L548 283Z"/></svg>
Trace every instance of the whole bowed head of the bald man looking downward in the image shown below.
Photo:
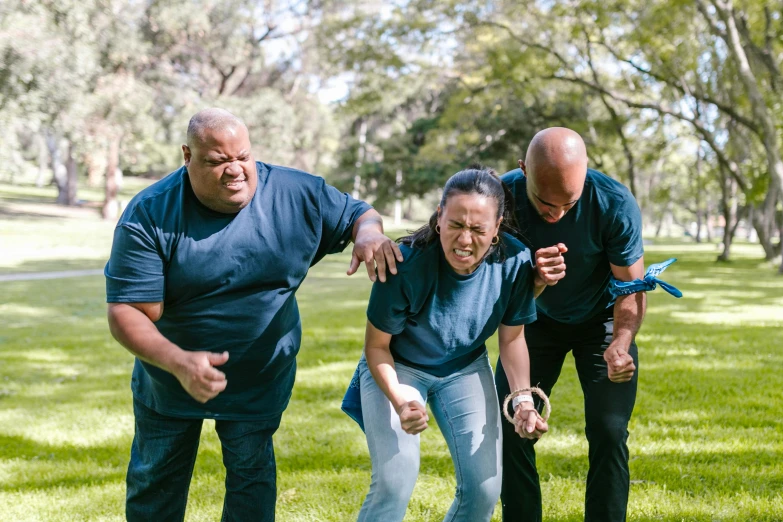
<svg viewBox="0 0 783 522"><path fill-rule="evenodd" d="M551 127L530 141L524 164L528 199L538 214L556 223L576 204L587 176L582 137L565 127Z"/></svg>

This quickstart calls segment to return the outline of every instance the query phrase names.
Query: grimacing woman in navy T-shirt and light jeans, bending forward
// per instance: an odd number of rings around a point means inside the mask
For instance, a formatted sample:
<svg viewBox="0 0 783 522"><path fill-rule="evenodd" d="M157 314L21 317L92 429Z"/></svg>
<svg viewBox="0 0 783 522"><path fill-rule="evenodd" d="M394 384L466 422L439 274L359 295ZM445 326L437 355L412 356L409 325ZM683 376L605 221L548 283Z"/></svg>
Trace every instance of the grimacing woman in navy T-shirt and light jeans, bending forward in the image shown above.
<svg viewBox="0 0 783 522"><path fill-rule="evenodd" d="M524 325L536 318L530 251L506 232L512 210L493 171L455 174L429 224L400 239L405 261L397 275L373 286L357 369L372 459L360 521L403 519L418 476L427 402L457 475L444 520L492 516L502 476L501 420L484 342L499 331L511 389L527 388ZM532 398L515 407L521 436L547 430Z"/></svg>

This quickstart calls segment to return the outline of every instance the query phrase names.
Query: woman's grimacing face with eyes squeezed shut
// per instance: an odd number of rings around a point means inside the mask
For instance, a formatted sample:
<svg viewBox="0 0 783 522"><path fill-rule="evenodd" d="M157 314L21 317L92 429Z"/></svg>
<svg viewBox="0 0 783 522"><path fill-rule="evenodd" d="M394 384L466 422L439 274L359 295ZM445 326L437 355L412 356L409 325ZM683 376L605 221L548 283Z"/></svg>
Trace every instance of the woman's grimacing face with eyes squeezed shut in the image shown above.
<svg viewBox="0 0 783 522"><path fill-rule="evenodd" d="M440 244L455 272L470 274L481 264L498 235L497 214L495 200L478 194L453 194L438 207Z"/></svg>

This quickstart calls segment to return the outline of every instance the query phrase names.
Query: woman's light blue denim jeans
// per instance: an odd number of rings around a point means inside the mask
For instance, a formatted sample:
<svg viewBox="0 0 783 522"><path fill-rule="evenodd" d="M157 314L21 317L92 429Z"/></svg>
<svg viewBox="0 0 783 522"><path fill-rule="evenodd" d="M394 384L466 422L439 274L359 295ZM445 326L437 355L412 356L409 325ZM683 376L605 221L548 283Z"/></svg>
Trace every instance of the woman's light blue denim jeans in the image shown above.
<svg viewBox="0 0 783 522"><path fill-rule="evenodd" d="M454 461L457 490L448 522L481 522L492 517L502 480L500 407L489 359L484 354L446 377L395 363L397 378L411 396L430 403ZM370 492L360 522L401 521L419 474L420 435L409 435L389 399L359 363L362 412L372 459ZM427 433L425 430L424 433Z"/></svg>

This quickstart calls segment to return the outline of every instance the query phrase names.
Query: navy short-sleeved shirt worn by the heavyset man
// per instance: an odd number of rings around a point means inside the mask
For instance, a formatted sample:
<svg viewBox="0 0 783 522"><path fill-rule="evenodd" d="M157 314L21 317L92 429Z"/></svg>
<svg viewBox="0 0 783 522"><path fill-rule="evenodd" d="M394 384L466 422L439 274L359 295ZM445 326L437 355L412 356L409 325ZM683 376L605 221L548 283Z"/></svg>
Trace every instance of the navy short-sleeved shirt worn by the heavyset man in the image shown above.
<svg viewBox="0 0 783 522"><path fill-rule="evenodd" d="M340 252L370 207L320 177L256 163L237 214L204 206L185 167L144 189L114 232L109 303L163 302L155 323L184 350L221 353L227 386L201 404L170 373L136 359L134 397L175 417L271 419L285 409L302 329L295 293L308 269Z"/></svg>

